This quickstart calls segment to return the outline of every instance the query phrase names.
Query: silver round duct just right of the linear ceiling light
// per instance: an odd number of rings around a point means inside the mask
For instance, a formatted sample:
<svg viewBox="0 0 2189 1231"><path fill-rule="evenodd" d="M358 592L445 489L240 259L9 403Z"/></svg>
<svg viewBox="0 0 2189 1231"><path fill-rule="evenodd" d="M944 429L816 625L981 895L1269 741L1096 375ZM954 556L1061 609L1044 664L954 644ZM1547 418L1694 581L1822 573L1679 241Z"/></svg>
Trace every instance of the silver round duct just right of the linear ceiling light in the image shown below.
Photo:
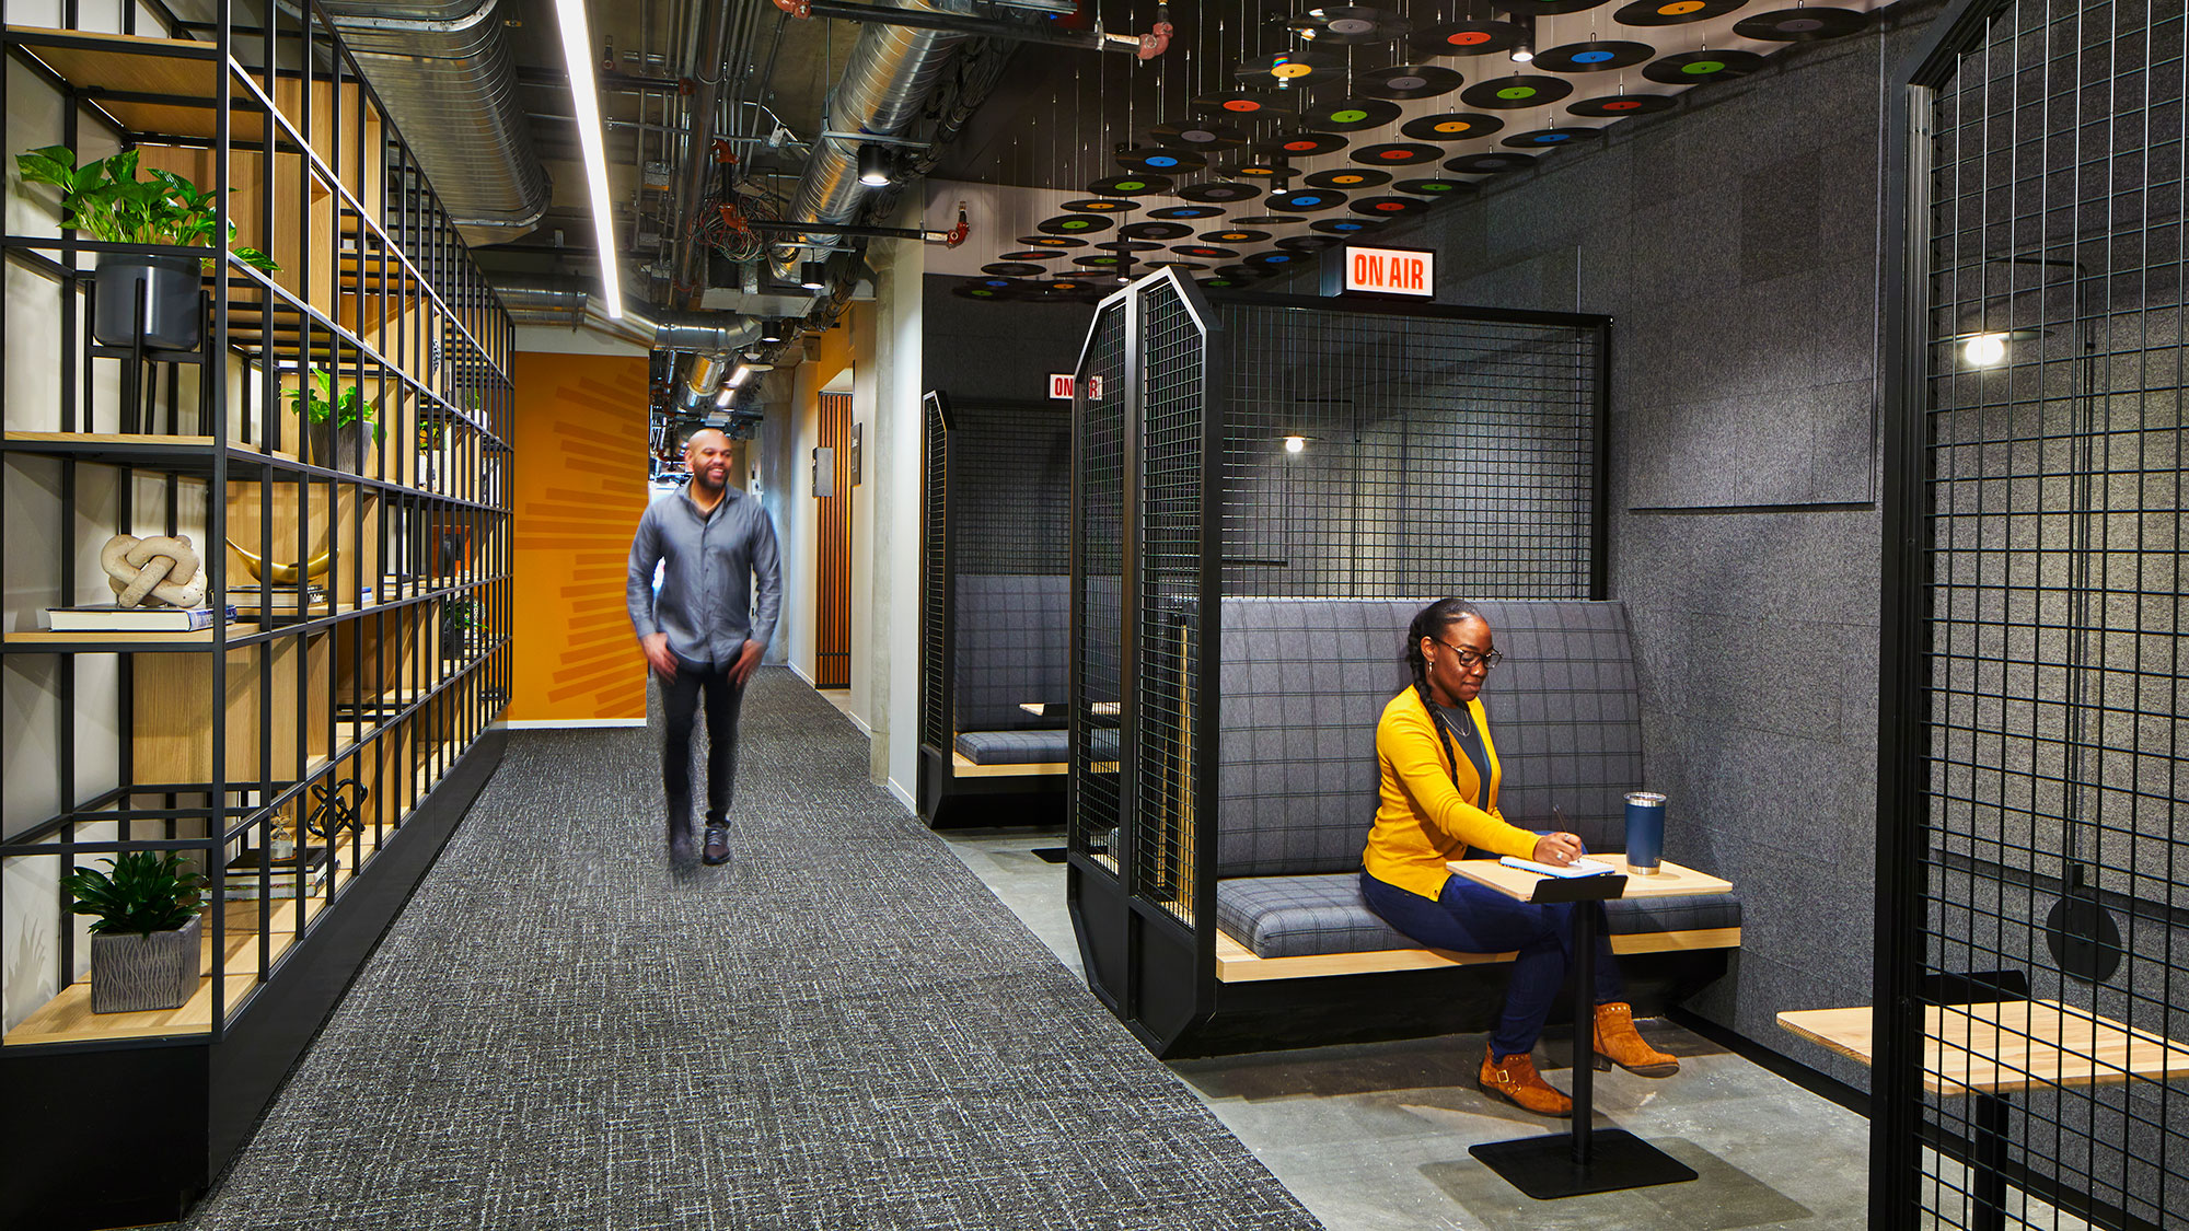
<svg viewBox="0 0 2189 1231"><path fill-rule="evenodd" d="M968 0L891 0L891 7L972 13ZM968 35L867 22L860 26L858 42L852 44L843 77L830 96L827 127L897 136L919 114L935 81L941 79L950 57L965 39ZM858 147L836 138L816 140L784 221L856 221L865 191L858 182ZM777 283L797 280L803 252L790 245L768 250L768 269Z"/></svg>

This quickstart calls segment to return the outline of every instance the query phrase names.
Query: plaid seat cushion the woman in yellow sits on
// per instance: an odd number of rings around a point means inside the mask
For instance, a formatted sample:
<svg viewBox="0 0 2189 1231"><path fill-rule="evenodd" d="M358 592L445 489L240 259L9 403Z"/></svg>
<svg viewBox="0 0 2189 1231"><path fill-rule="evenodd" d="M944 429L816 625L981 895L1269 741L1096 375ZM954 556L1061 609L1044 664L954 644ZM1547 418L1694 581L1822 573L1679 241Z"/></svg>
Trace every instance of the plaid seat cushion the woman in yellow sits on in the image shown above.
<svg viewBox="0 0 2189 1231"><path fill-rule="evenodd" d="M1740 898L1640 898L1605 902L1611 935L1740 927ZM1217 881L1217 927L1254 957L1316 957L1421 948L1362 900L1359 874L1235 876Z"/></svg>

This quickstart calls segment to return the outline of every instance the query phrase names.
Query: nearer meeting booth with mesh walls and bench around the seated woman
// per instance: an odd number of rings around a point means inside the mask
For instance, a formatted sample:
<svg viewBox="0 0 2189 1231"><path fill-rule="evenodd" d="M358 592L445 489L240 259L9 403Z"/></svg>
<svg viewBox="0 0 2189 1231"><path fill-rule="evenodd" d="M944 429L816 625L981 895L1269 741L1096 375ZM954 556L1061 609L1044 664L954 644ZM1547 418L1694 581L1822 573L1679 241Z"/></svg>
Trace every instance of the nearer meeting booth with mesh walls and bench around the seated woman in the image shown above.
<svg viewBox="0 0 2189 1231"><path fill-rule="evenodd" d="M1377 716L1434 598L1478 600L1506 655L1484 688L1506 817L1622 850L1646 771L1605 600L1609 337L1594 315L1211 300L1175 272L1103 300L1073 421L1068 902L1090 986L1154 1051L1495 1016L1510 955L1423 948L1357 885ZM1725 970L1740 902L1611 902L1611 931L1661 1005Z"/></svg>

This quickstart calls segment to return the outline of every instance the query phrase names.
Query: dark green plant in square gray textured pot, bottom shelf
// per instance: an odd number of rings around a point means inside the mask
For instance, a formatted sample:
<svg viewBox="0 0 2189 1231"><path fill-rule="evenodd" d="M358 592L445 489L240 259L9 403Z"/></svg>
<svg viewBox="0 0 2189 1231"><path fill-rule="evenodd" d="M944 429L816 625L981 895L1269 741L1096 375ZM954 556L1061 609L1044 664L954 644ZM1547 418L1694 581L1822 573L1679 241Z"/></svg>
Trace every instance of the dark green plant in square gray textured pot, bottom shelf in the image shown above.
<svg viewBox="0 0 2189 1231"><path fill-rule="evenodd" d="M179 854L131 850L61 878L92 918L92 1012L171 1010L197 994L206 878Z"/></svg>

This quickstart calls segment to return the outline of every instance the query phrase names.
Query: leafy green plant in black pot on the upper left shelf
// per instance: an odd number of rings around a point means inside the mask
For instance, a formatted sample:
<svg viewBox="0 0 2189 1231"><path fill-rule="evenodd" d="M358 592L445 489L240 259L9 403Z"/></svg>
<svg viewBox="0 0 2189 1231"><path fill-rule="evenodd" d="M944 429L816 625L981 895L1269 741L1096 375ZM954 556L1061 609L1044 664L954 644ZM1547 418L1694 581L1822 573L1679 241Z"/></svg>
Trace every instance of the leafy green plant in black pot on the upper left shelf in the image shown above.
<svg viewBox="0 0 2189 1231"><path fill-rule="evenodd" d="M68 210L61 226L90 232L107 243L166 243L175 248L212 245L212 193L201 193L173 171L151 169L138 175L138 151L125 149L77 166L77 153L66 145L48 145L15 156L15 166L28 184L53 184ZM236 223L228 223L234 241ZM236 256L254 269L274 274L280 265L256 248L236 248ZM199 269L210 269L212 256L149 256L140 252L99 254L99 309L92 335L107 346L129 346L136 340L138 296L144 296L144 344L169 350L195 350L201 335L197 313ZM142 291L138 287L144 287Z"/></svg>

